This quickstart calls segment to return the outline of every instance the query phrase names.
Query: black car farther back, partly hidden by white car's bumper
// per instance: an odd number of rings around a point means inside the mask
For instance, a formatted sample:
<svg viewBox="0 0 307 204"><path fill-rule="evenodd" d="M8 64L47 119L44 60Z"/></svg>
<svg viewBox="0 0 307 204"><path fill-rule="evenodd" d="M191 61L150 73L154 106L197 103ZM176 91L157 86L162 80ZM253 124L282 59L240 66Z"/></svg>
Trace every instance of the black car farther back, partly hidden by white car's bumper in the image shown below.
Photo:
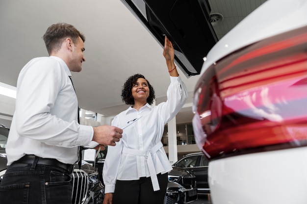
<svg viewBox="0 0 307 204"><path fill-rule="evenodd" d="M173 164L174 167L184 168L196 176L199 193L210 193L208 185L208 160L203 153L190 153Z"/></svg>

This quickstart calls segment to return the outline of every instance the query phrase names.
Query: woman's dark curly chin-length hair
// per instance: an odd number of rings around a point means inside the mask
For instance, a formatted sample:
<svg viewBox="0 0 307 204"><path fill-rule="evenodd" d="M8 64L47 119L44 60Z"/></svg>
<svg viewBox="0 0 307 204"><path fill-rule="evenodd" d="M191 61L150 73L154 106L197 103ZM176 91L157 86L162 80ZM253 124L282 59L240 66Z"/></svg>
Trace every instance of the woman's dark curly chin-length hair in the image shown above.
<svg viewBox="0 0 307 204"><path fill-rule="evenodd" d="M133 75L131 77L129 77L127 79L127 81L125 82L123 89L122 89L122 100L123 102L125 102L127 105L133 105L134 104L134 99L132 97L132 86L136 83L138 78L144 78L147 83L148 83L148 87L149 87L149 96L147 98L147 102L148 104L153 104L153 100L155 98L154 96L154 90L153 90L153 86L149 83L149 81L141 74L136 74Z"/></svg>

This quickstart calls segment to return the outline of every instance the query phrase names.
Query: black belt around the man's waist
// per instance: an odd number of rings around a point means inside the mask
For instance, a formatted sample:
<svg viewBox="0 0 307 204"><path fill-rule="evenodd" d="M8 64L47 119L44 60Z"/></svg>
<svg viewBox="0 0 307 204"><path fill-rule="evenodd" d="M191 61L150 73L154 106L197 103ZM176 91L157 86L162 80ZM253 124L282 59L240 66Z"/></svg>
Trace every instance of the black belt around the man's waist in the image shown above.
<svg viewBox="0 0 307 204"><path fill-rule="evenodd" d="M42 158L38 157L32 154L26 154L25 156L21 157L19 160L14 161L12 164L33 164L35 157L37 157L37 163L38 165L48 165L53 167L60 167L62 169L65 169L69 173L73 173L74 165L72 164L64 164L56 159L51 158Z"/></svg>

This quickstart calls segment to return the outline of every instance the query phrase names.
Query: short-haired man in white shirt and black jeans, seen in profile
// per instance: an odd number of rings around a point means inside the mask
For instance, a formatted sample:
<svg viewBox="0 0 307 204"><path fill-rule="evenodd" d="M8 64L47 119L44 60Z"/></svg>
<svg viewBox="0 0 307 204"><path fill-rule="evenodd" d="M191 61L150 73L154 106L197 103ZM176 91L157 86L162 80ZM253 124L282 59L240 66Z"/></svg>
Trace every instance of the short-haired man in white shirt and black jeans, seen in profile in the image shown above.
<svg viewBox="0 0 307 204"><path fill-rule="evenodd" d="M43 36L49 57L30 60L17 81L16 109L8 136L8 169L1 204L71 204L79 146L115 146L123 130L78 124L71 72L80 72L85 37L74 26L51 25Z"/></svg>

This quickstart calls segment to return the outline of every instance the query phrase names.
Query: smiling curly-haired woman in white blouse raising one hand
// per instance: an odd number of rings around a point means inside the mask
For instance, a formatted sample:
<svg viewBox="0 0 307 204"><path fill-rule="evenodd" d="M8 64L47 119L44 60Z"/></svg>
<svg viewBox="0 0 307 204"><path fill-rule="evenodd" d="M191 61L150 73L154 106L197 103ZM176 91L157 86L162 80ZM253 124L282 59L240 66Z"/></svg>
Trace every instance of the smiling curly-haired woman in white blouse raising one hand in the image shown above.
<svg viewBox="0 0 307 204"><path fill-rule="evenodd" d="M163 204L167 173L172 166L161 139L165 124L187 99L174 63L174 48L167 37L163 55L171 79L166 102L151 105L155 98L153 86L143 75L129 77L123 86L122 100L130 106L112 121L113 126L124 130L117 145L108 147L104 161L103 204Z"/></svg>

